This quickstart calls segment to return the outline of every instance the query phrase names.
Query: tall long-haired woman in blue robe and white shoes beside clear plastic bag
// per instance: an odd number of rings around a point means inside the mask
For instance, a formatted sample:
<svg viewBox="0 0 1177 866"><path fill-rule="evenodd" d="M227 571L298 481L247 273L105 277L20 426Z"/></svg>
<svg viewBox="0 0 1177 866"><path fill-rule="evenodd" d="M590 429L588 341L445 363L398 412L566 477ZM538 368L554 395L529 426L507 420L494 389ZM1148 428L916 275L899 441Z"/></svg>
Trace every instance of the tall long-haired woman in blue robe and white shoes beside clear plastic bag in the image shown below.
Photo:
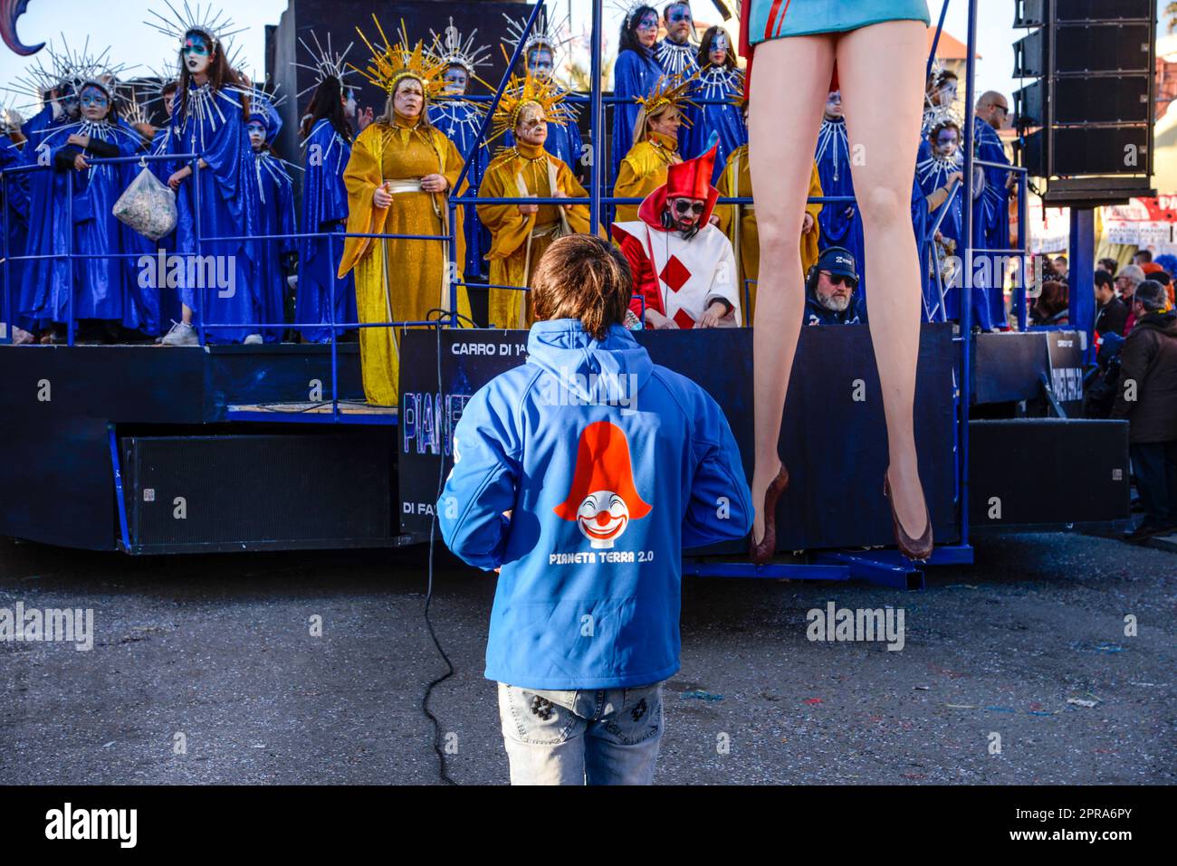
<svg viewBox="0 0 1177 866"><path fill-rule="evenodd" d="M214 29L182 28L179 104L168 153L199 153L201 159L199 176L185 165L168 179L179 209L177 253L197 257L186 261L184 321L164 338L168 346L197 344L201 321L230 326L207 329L208 342L261 342L255 327L262 306L257 244L204 240L258 233L258 184L244 116L248 98Z"/></svg>

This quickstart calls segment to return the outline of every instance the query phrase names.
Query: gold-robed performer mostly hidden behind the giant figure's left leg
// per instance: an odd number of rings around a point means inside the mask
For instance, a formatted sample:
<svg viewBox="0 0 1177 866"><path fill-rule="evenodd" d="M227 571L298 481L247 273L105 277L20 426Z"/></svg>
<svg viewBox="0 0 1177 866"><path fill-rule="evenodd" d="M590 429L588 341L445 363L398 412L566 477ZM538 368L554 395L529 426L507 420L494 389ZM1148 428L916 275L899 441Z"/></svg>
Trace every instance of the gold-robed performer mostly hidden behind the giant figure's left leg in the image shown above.
<svg viewBox="0 0 1177 866"><path fill-rule="evenodd" d="M752 196L752 179L747 171L747 145L742 145L732 151L724 166L723 174L719 175L719 196L724 199L740 199ZM810 175L809 195L812 199L822 198L822 179L817 173L817 162L813 164L813 174ZM752 205L720 205L716 208L719 215L719 227L736 248L736 261L739 265L739 291L740 298L747 298L747 322L753 324L756 315L756 281L760 275L760 235L756 228L756 209ZM739 219L733 216L739 214ZM817 264L820 251L818 240L820 229L817 216L822 213L822 205L812 202L805 206L805 221L802 225L802 271L809 269ZM747 295L744 287L747 286Z"/></svg>

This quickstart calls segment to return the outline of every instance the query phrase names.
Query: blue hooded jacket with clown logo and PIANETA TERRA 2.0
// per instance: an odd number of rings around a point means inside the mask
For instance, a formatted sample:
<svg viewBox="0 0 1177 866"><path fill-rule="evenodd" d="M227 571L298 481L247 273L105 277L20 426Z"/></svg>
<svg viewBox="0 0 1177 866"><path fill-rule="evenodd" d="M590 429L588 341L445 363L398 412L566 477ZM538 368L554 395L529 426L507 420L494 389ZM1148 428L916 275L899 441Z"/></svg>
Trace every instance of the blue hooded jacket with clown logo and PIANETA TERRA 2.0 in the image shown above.
<svg viewBox="0 0 1177 866"><path fill-rule="evenodd" d="M438 501L450 548L501 567L486 677L659 682L679 670L683 548L752 526L736 440L718 404L620 325L597 341L574 319L537 322L527 351L463 409Z"/></svg>

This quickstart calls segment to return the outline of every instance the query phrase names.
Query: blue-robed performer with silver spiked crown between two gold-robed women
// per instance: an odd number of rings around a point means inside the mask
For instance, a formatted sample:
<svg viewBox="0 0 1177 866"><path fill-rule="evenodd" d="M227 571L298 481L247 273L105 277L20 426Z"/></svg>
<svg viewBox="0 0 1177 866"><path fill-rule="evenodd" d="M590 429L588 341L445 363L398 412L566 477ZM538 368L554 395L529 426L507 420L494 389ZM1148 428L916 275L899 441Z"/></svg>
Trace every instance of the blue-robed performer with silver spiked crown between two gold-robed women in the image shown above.
<svg viewBox="0 0 1177 866"><path fill-rule="evenodd" d="M458 153L470 165L470 173L466 180L471 187L478 188L483 182L483 173L490 162L490 155L485 147L477 146L478 132L483 126L483 118L486 116L486 108L477 102L467 102L461 99L473 86L474 81L480 81L476 74L479 66L490 65L486 54L490 48L486 46L474 47L474 38L471 34L463 39L458 28L450 19L450 27L446 28L441 59L447 64L444 73L445 89L441 99L428 106L428 119L441 133L453 141ZM463 231L466 233L466 261L463 262L466 274L474 277L483 271L483 249L488 248L490 235L483 229L478 221L478 212L473 207L466 207L463 212Z"/></svg>

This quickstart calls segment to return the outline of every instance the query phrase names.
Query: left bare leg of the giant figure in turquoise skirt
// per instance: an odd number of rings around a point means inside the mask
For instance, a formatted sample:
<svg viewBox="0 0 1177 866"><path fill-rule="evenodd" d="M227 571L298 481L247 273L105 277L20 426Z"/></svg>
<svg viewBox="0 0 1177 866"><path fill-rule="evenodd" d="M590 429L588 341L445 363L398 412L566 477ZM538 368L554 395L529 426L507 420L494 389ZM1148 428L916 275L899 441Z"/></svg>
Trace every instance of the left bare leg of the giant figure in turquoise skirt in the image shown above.
<svg viewBox="0 0 1177 866"><path fill-rule="evenodd" d="M764 493L780 471L780 418L805 311L799 239L822 108L833 74L833 51L832 35L792 36L756 47L749 109L749 168L760 233L760 284L752 340L756 541L764 538ZM918 289L918 280L913 285Z"/></svg>

